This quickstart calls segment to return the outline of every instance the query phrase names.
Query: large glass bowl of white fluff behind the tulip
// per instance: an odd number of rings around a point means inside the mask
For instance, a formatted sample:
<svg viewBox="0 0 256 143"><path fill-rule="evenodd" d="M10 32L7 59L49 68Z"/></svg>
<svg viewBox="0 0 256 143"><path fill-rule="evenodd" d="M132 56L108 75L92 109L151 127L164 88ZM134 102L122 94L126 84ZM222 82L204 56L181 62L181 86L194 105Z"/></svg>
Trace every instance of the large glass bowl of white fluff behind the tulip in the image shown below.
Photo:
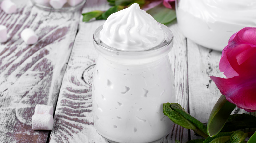
<svg viewBox="0 0 256 143"><path fill-rule="evenodd" d="M179 0L176 8L181 32L207 48L221 51L244 27L256 27L255 0Z"/></svg>

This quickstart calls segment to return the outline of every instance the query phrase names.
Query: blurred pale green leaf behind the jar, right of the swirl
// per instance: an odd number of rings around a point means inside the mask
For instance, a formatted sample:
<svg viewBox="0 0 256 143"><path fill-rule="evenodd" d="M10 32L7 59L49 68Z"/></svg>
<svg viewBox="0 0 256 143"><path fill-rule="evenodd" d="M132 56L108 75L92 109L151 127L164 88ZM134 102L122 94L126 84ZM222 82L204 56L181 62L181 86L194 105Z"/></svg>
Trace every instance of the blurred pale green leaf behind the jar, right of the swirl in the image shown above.
<svg viewBox="0 0 256 143"><path fill-rule="evenodd" d="M157 22L165 25L176 19L175 10L166 8L162 4L149 9L147 13L152 15Z"/></svg>

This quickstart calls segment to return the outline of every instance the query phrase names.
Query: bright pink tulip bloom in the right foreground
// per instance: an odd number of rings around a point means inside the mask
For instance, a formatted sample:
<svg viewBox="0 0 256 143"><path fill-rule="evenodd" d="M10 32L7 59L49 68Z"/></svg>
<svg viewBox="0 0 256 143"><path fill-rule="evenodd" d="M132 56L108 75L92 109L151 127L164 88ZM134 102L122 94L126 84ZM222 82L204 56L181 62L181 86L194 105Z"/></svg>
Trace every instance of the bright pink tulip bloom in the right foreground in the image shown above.
<svg viewBox="0 0 256 143"><path fill-rule="evenodd" d="M210 78L221 94L239 108L256 111L256 27L243 28L230 37L219 68L227 79Z"/></svg>

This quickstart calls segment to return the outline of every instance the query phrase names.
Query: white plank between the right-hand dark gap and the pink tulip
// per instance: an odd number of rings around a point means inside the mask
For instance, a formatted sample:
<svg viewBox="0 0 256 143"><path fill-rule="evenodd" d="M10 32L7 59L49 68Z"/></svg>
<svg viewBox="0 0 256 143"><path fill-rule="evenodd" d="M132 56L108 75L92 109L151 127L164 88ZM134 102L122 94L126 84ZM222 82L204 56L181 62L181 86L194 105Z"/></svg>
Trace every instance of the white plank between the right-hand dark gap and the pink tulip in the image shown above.
<svg viewBox="0 0 256 143"><path fill-rule="evenodd" d="M188 39L188 84L189 111L192 116L205 123L214 104L221 95L209 76L224 77L219 72L221 52L207 49ZM197 136L191 132L191 139Z"/></svg>

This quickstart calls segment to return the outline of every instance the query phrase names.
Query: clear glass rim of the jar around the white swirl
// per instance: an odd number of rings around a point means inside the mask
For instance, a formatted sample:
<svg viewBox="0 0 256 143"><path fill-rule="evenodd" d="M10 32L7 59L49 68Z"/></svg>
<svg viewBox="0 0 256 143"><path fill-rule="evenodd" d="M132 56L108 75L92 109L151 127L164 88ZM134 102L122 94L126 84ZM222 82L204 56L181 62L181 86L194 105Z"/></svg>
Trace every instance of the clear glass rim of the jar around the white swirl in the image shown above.
<svg viewBox="0 0 256 143"><path fill-rule="evenodd" d="M119 53L119 54L122 54L122 53L123 54L132 54L132 53L137 53L137 52L139 52L139 53L141 53L141 52L152 52L152 51L156 51L156 50L159 50L161 48L164 48L164 47L168 46L169 44L173 43L173 33L172 33L171 29L169 27L165 26L164 24L161 24L161 23L158 23L158 24L160 24L162 29L163 29L163 32L165 34L165 39L159 45L154 46L154 47L149 48L149 49L129 51L129 50L121 50L121 49L117 49L117 48L108 46L106 43L104 43L103 41L100 40L100 31L102 30L103 25L99 26L95 30L95 32L93 34L93 40L101 48L103 48L104 50L107 50L109 52L115 52L115 53Z"/></svg>

